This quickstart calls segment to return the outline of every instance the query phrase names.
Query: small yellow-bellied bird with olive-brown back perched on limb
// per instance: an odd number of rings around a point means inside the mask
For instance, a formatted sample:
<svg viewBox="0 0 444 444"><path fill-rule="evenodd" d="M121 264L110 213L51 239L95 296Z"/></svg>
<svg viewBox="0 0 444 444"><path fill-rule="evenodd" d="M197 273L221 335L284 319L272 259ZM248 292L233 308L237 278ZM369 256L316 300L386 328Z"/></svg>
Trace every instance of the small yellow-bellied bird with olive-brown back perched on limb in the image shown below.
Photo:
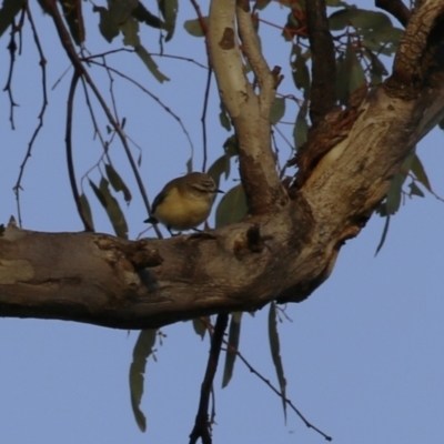
<svg viewBox="0 0 444 444"><path fill-rule="evenodd" d="M218 190L213 179L204 173L190 173L168 182L155 196L152 215L144 222L162 223L171 230L183 231L199 226L210 215Z"/></svg>

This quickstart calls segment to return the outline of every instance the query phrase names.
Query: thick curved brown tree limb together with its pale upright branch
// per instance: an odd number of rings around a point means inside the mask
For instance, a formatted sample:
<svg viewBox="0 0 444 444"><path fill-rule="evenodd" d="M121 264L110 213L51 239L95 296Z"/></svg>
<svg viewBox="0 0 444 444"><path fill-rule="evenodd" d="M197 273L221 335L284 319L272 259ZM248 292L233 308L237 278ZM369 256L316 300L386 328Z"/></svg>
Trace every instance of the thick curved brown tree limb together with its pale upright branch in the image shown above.
<svg viewBox="0 0 444 444"><path fill-rule="evenodd" d="M1 316L158 327L253 311L272 300L301 302L330 275L344 241L360 232L405 155L444 118L444 75L434 61L444 34L442 1L424 1L411 17L394 75L369 93L357 91L349 110L319 125L289 190L278 180L270 138L260 140L270 134L264 110L276 83L262 79L255 95L246 82L235 13L234 1L213 1L210 48L235 122L252 214L210 233L139 242L12 224L0 235ZM262 62L258 67L263 70Z"/></svg>

